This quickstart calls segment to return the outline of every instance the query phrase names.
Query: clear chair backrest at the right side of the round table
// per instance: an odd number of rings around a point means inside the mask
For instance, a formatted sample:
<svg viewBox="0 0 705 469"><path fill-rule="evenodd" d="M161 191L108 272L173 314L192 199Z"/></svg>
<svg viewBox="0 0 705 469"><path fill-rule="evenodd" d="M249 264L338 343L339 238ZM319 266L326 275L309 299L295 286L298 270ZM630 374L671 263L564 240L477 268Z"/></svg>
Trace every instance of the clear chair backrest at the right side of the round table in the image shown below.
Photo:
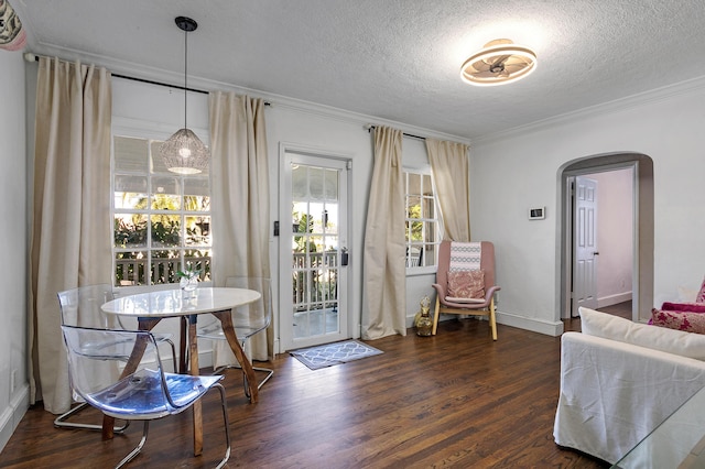
<svg viewBox="0 0 705 469"><path fill-rule="evenodd" d="M248 288L262 295L257 302L232 309L232 325L240 339L247 339L260 330L267 329L272 321L272 285L265 277L230 276L225 286Z"/></svg>

